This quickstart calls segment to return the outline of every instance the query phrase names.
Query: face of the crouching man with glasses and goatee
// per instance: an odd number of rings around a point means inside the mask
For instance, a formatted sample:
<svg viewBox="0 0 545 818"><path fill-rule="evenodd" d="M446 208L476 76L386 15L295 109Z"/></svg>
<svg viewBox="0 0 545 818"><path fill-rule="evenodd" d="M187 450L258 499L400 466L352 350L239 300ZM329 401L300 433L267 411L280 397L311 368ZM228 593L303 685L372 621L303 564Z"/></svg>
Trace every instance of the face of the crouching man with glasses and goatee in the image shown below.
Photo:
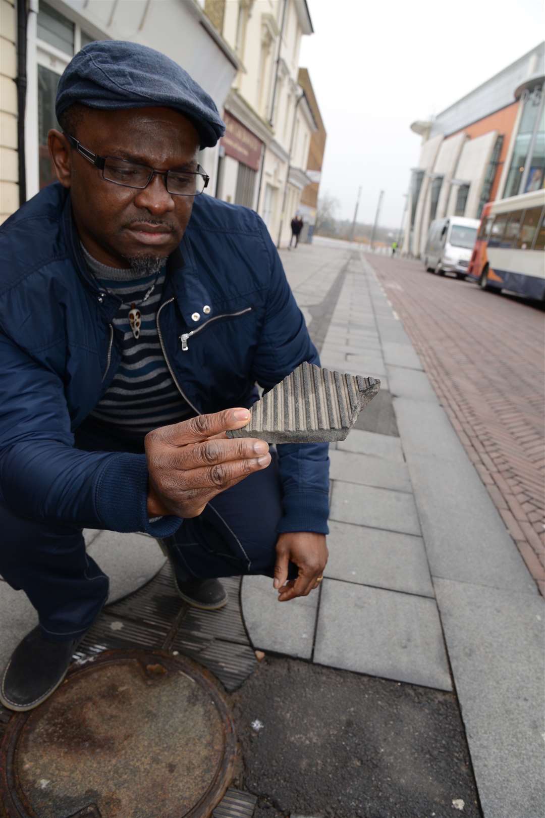
<svg viewBox="0 0 545 818"><path fill-rule="evenodd" d="M171 108L86 108L71 136L99 156L160 171L197 169L199 135L189 119ZM49 144L59 181L70 188L79 236L92 256L112 267L129 267L129 259L172 253L190 220L192 196L172 196L161 176L154 176L144 190L116 185L77 151L67 150L58 131L50 132Z"/></svg>

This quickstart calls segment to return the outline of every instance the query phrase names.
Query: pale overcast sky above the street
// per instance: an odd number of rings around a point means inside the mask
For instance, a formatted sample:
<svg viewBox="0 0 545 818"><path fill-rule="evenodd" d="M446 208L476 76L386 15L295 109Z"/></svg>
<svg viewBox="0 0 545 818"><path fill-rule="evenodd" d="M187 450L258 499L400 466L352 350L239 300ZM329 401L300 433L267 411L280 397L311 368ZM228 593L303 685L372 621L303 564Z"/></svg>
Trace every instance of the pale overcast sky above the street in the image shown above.
<svg viewBox="0 0 545 818"><path fill-rule="evenodd" d="M420 137L409 125L439 114L543 39L543 0L307 0L315 34L302 38L324 119L320 193L352 218L400 225ZM514 89L513 89L514 90Z"/></svg>

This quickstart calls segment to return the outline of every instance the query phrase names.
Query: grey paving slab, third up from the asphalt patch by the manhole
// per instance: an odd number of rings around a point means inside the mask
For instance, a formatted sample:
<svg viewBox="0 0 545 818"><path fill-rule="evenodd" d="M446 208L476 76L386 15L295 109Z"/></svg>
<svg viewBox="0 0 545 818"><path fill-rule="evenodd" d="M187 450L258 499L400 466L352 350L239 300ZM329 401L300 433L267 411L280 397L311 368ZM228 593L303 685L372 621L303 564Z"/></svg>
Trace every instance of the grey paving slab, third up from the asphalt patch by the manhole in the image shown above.
<svg viewBox="0 0 545 818"><path fill-rule="evenodd" d="M405 534L420 534L418 515L412 494L387 488L358 486L333 480L331 519L339 523L385 528Z"/></svg>

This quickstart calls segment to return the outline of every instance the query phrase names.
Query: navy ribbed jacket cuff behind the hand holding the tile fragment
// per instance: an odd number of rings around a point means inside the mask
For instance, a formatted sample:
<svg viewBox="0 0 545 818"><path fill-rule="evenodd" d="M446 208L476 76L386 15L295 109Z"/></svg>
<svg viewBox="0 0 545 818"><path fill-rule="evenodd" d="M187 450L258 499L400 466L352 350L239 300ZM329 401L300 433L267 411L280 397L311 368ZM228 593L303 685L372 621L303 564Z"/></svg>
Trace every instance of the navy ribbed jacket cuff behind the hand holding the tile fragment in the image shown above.
<svg viewBox="0 0 545 818"><path fill-rule="evenodd" d="M96 487L96 510L108 531L172 537L182 522L174 516L150 522L145 455L123 453L109 459Z"/></svg>

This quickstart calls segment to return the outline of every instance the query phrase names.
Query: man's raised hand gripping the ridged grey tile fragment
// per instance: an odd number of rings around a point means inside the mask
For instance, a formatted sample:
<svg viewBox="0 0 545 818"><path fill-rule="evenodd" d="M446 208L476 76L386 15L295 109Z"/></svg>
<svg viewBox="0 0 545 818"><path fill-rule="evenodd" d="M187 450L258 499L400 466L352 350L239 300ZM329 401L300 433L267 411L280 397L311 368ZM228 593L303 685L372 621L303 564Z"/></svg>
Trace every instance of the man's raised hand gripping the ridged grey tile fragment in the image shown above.
<svg viewBox="0 0 545 818"><path fill-rule="evenodd" d="M226 429L240 429L248 420L248 409L228 409L146 434L148 515L197 517L212 497L266 469L270 454L264 440L226 438Z"/></svg>

